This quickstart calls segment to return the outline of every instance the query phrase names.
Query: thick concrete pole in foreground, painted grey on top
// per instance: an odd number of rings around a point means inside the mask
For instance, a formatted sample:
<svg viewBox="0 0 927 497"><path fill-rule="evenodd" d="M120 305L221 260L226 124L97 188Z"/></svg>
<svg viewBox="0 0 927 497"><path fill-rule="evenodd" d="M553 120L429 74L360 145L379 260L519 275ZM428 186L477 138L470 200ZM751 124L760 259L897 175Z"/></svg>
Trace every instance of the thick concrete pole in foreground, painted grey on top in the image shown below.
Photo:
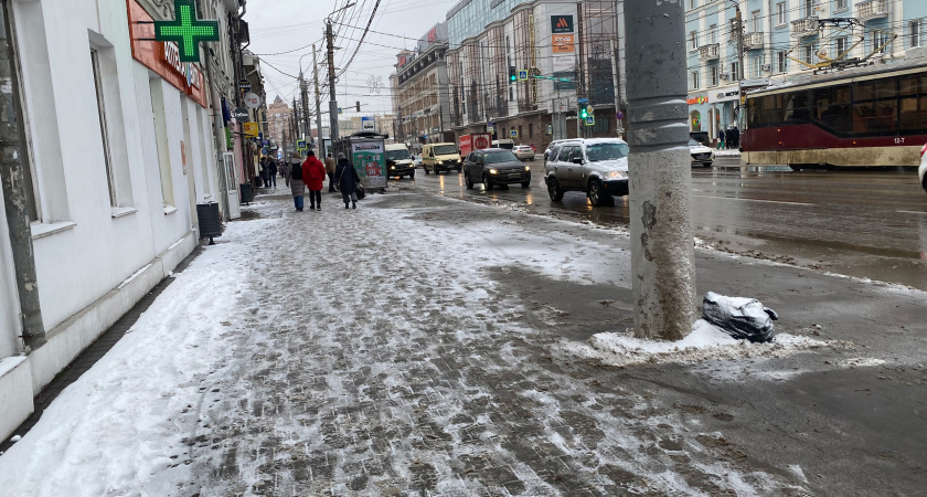
<svg viewBox="0 0 927 497"><path fill-rule="evenodd" d="M635 334L678 340L695 321L682 2L626 0ZM659 35L657 35L659 33Z"/></svg>

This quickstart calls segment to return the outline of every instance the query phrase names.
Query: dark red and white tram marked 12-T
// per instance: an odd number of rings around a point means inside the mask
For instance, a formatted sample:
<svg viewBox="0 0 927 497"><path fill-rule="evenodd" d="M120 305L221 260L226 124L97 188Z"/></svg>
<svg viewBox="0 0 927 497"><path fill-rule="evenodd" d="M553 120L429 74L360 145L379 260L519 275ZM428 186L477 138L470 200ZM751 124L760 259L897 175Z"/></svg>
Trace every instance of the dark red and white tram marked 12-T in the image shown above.
<svg viewBox="0 0 927 497"><path fill-rule="evenodd" d="M927 63L770 86L750 92L745 107L744 163L917 166L927 142Z"/></svg>

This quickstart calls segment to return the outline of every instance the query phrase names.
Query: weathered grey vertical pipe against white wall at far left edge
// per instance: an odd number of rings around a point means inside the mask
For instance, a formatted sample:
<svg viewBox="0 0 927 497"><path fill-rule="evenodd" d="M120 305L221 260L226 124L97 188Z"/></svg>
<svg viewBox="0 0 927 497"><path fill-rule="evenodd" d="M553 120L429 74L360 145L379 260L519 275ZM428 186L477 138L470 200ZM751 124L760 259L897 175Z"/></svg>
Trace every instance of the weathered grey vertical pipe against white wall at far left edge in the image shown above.
<svg viewBox="0 0 927 497"><path fill-rule="evenodd" d="M32 229L29 226L29 183L25 176L25 130L20 105L19 81L14 74L13 38L10 32L8 2L0 2L0 85L8 88L0 92L0 183L3 190L3 208L10 232L13 252L13 269L20 300L22 338L25 346L36 349L45 343L45 325L39 300L39 282L35 271L35 252L32 246Z"/></svg>

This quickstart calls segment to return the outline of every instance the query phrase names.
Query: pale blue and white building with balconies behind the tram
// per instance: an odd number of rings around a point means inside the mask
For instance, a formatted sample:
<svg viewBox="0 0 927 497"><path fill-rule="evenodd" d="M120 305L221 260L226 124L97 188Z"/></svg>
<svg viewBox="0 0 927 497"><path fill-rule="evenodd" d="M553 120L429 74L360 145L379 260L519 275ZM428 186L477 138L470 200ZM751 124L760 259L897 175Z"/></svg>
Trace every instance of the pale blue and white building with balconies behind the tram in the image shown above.
<svg viewBox="0 0 927 497"><path fill-rule="evenodd" d="M923 56L923 0L748 0L739 2L744 66L737 56L736 8L685 0L690 129L738 123L740 93L811 77L827 60L884 64ZM855 27L821 28L819 19L855 19ZM743 80L739 74L743 71Z"/></svg>

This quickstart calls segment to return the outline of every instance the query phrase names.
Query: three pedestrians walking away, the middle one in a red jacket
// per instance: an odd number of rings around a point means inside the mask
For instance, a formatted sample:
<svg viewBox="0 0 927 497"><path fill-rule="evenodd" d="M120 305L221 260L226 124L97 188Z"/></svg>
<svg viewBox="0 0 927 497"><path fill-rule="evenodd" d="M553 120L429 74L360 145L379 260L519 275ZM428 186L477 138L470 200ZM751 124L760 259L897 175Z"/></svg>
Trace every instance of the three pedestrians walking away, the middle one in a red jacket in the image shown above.
<svg viewBox="0 0 927 497"><path fill-rule="evenodd" d="M302 212L307 189L309 190L309 210L322 210L322 188L326 177L329 179L329 192L341 192L344 209L349 209L349 205L351 209L358 209L358 186L361 178L343 154L338 155L338 162L329 154L322 163L312 150L309 150L306 160L298 152L294 152L284 177L290 187L297 212Z"/></svg>

